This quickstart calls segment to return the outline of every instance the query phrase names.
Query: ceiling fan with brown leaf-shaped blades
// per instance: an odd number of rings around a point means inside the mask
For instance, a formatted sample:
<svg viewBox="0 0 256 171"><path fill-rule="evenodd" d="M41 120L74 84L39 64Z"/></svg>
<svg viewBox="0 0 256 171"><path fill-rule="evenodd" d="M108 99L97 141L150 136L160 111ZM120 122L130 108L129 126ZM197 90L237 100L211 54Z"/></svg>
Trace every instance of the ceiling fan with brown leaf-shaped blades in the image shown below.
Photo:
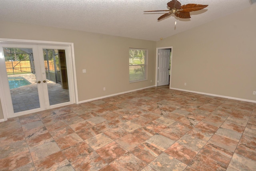
<svg viewBox="0 0 256 171"><path fill-rule="evenodd" d="M157 20L161 20L166 18L172 14L174 14L178 18L191 18L190 12L198 11L206 8L208 5L200 5L200 4L186 4L181 5L177 0L171 0L167 3L167 8L169 10L156 10L156 11L144 11L144 12L160 12L160 11L168 11L164 15L160 16Z"/></svg>

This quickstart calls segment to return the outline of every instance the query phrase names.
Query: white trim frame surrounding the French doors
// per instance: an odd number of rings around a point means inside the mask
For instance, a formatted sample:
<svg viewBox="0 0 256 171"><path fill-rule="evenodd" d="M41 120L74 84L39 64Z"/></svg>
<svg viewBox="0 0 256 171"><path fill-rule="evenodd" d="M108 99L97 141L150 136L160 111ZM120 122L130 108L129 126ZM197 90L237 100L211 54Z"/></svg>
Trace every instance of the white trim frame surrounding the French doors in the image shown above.
<svg viewBox="0 0 256 171"><path fill-rule="evenodd" d="M70 60L67 62L70 62L70 71L71 72L71 84L73 89L69 89L69 91L73 91L72 94L74 95L73 97L70 97L72 99L73 103L78 103L78 92L77 92L77 83L76 83L76 68L75 68L75 59L74 59L74 44L73 43L68 43L68 42L49 42L49 41L38 41L38 40L18 40L18 39L1 39L0 42L2 43L14 43L14 44L26 44L26 45L31 45L31 46L66 46L68 48L68 55L70 56ZM0 60L2 59L4 54L0 54ZM0 69L0 72L6 72L2 71L3 69ZM0 87L2 86L2 80L0 77ZM2 111L4 114L4 121L8 119L8 111L10 110L10 107L6 104L6 97L5 97L5 92L4 88L0 88L0 99L1 99L1 104L2 104ZM62 105L59 105L62 106ZM58 105L53 105L53 107L59 107ZM50 107L50 108L53 108ZM18 116L18 115L17 115Z"/></svg>

